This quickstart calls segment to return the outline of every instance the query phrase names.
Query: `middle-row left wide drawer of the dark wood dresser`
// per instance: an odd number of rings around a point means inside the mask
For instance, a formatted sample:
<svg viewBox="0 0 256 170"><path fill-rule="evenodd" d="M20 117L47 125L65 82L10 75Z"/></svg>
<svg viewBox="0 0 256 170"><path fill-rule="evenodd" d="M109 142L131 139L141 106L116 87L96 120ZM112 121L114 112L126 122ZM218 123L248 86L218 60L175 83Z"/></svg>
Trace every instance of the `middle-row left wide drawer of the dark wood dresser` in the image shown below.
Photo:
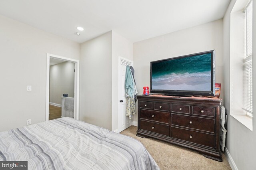
<svg viewBox="0 0 256 170"><path fill-rule="evenodd" d="M148 119L169 124L169 113L140 109L140 119Z"/></svg>

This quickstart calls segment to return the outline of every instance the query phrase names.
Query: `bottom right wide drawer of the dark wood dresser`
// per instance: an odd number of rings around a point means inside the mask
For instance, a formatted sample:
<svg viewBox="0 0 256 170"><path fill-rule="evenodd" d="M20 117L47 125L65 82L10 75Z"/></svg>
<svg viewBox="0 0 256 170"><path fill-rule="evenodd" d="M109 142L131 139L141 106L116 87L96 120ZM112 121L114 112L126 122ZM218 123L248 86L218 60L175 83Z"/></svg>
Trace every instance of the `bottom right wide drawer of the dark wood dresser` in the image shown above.
<svg viewBox="0 0 256 170"><path fill-rule="evenodd" d="M215 140L213 134L206 134L202 132L196 132L193 130L172 127L172 138L208 146L210 148L215 148Z"/></svg>

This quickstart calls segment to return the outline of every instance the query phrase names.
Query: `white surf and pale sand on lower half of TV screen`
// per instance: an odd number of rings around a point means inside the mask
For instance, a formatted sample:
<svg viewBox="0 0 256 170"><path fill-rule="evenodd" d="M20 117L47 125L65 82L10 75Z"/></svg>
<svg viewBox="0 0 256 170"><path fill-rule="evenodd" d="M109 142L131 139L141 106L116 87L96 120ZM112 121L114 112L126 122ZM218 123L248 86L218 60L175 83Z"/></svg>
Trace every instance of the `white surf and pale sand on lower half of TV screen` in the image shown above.
<svg viewBox="0 0 256 170"><path fill-rule="evenodd" d="M210 91L211 71L152 76L152 89Z"/></svg>

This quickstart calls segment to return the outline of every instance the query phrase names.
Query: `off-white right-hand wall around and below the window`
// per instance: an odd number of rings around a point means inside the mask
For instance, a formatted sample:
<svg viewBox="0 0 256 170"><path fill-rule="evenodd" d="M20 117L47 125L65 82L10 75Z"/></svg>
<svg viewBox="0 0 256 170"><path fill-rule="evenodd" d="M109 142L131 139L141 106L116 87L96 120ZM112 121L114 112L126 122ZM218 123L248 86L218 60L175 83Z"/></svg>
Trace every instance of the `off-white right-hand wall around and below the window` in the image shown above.
<svg viewBox="0 0 256 170"><path fill-rule="evenodd" d="M230 12L236 0L232 0L223 18L223 56L224 56L224 106L228 115L228 133L226 138L226 149L228 149L233 163L239 170L253 170L256 167L256 119L253 118L253 131L246 128L242 123L230 116ZM256 28L256 0L253 0L253 30ZM256 32L253 32L253 53L256 53ZM253 59L253 68L256 60ZM256 77L256 69L253 69L253 77ZM253 96L256 96L256 80L253 79ZM238 97L238 96L235 96ZM253 108L256 108L256 100L253 98ZM234 164L230 160L230 166Z"/></svg>

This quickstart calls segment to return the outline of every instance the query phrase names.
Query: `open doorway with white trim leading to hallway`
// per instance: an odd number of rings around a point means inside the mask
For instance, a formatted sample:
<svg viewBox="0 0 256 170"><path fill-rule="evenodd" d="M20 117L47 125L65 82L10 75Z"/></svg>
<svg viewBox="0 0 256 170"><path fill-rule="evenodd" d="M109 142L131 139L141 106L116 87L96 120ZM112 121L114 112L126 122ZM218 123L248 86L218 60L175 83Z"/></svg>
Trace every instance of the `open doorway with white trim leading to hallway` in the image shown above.
<svg viewBox="0 0 256 170"><path fill-rule="evenodd" d="M60 111L62 117L78 120L79 61L48 53L46 70L46 121L60 117Z"/></svg>

